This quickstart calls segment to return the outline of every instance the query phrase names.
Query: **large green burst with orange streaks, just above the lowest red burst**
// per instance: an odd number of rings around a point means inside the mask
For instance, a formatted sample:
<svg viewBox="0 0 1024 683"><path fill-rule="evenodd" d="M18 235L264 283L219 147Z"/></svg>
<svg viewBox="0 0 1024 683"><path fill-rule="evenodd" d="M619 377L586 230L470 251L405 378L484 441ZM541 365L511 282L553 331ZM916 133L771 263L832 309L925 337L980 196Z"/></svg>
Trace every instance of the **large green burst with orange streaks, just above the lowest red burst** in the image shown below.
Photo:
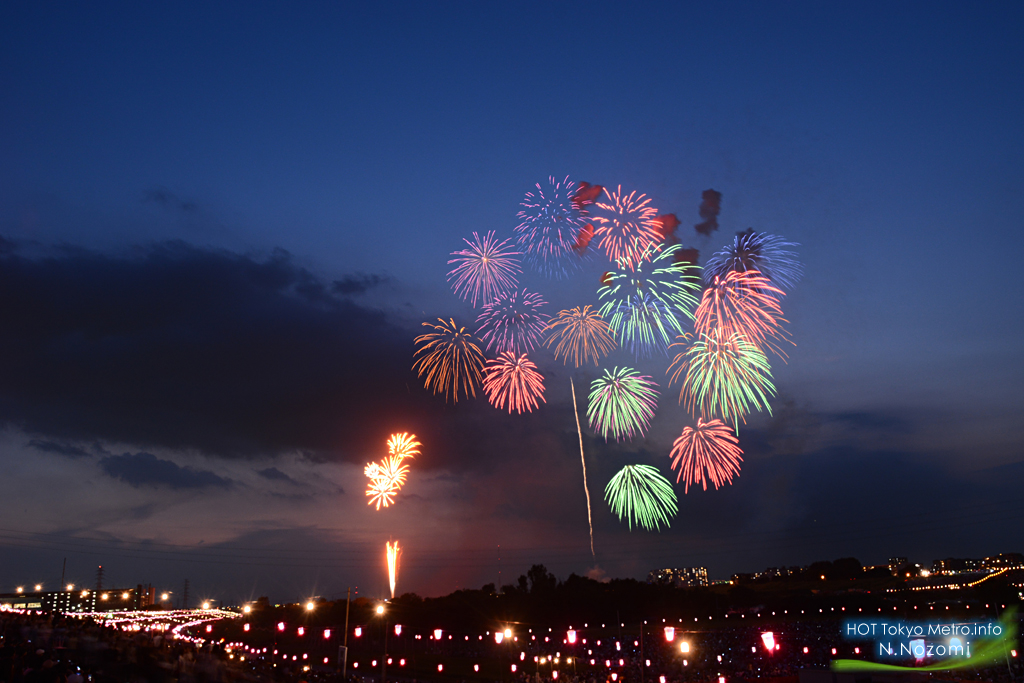
<svg viewBox="0 0 1024 683"><path fill-rule="evenodd" d="M685 401L690 413L699 409L700 416L717 415L733 426L746 422L744 416L752 409L771 414L768 397L775 395L771 367L761 349L742 335L725 337L716 329L692 343L683 338L673 346L688 346L668 372L673 373L670 384L683 378L679 401Z"/></svg>

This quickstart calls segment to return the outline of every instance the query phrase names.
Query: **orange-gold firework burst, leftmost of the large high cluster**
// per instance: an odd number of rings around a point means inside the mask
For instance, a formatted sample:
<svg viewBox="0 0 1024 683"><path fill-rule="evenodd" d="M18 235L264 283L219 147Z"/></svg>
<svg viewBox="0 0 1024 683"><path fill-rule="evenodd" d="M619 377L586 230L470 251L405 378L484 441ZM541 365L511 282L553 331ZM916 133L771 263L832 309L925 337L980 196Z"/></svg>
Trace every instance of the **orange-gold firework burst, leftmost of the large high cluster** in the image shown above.
<svg viewBox="0 0 1024 683"><path fill-rule="evenodd" d="M473 336L454 319L445 323L437 318L437 323L423 324L433 332L416 338L415 342L422 346L414 354L420 357L413 364L413 370L419 377L426 374L423 386L435 394L443 393L445 400L451 396L453 402L459 402L460 390L465 396L475 398L483 370L483 351L473 342Z"/></svg>

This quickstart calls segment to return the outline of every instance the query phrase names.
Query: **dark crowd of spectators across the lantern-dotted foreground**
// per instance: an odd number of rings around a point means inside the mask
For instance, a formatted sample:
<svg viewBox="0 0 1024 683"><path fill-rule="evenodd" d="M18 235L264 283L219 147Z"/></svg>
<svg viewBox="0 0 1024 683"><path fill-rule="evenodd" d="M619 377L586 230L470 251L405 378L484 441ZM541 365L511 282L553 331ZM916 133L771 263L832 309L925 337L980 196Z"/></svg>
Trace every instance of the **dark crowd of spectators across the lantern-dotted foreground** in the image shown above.
<svg viewBox="0 0 1024 683"><path fill-rule="evenodd" d="M778 649L769 651L762 634L771 630ZM544 638L549 638L545 641ZM503 671L500 683L715 683L739 681L796 683L801 670L826 670L838 656L854 657L856 643L843 639L835 621L786 622L774 628L720 628L705 631L682 628L668 642L659 626L567 644L560 637L523 635L505 648L479 639L429 641L411 648L411 658L442 657L461 661L490 660L486 672ZM689 651L679 647L687 642ZM865 647L869 646L866 643ZM804 651L807 648L807 651ZM413 651L418 650L418 651ZM861 658L870 659L862 650ZM552 657L557 656L556 665ZM572 657L573 664L566 661ZM856 658L856 657L854 657ZM500 661L495 661L499 659ZM547 659L547 661L545 661ZM595 665L591 665L591 660ZM610 663L607 666L606 663ZM1012 658L985 668L944 672L943 681L1021 681L1024 669ZM516 671L511 671L515 664ZM122 631L89 618L62 615L0 613L0 682L6 683L205 683L280 681L298 683L378 683L377 671L349 671L347 679L331 667L274 666L270 657L250 657L244 664L222 645L197 645L160 631ZM481 683L486 675L470 676L456 667L434 675L411 668L388 671L389 681L420 683ZM614 679L612 678L614 674ZM861 677L865 678L865 677ZM938 680L938 679L937 679Z"/></svg>

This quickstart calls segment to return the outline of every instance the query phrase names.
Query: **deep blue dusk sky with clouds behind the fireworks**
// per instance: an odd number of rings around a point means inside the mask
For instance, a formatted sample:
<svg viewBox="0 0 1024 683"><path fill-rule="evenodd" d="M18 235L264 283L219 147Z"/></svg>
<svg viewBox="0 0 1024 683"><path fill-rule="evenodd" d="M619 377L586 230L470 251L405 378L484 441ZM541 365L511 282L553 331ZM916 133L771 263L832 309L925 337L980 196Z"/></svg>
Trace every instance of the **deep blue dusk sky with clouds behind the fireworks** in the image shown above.
<svg viewBox="0 0 1024 683"><path fill-rule="evenodd" d="M705 565L1024 552L1020 3L0 5L0 592L440 595ZM667 357L645 438L585 425L537 355L524 415L411 370L472 231L549 175L674 212L701 260L799 243L796 346L740 476L630 531L610 476L690 423ZM701 193L719 229L697 236ZM527 272L549 313L606 264ZM581 405L581 410L585 410ZM367 506L391 432L423 442ZM675 474L671 473L672 480Z"/></svg>

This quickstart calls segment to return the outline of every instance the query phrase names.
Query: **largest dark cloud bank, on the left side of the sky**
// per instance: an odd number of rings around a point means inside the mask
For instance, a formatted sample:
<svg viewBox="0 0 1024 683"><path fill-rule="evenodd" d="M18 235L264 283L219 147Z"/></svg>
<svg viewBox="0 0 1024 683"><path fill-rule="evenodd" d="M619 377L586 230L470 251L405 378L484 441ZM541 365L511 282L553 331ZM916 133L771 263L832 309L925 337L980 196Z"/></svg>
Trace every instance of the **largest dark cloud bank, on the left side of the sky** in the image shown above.
<svg viewBox="0 0 1024 683"><path fill-rule="evenodd" d="M425 399L410 372L416 331L280 250L8 254L0 315L0 423L53 442L358 461Z"/></svg>

